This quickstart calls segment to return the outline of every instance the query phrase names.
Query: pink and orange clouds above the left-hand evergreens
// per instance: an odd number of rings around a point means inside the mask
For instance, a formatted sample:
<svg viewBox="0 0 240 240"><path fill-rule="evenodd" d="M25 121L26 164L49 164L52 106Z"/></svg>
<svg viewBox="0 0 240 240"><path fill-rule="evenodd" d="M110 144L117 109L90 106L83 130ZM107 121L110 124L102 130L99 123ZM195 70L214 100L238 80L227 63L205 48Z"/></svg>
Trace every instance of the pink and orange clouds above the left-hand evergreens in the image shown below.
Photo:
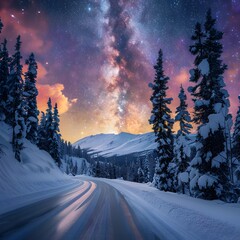
<svg viewBox="0 0 240 240"><path fill-rule="evenodd" d="M8 44L10 45L8 46L9 49L13 49L17 35L21 35L21 41L23 43L22 53L24 56L29 56L31 52L43 56L51 48L52 43L45 38L48 26L43 16L38 16L38 19L31 19L30 21L29 15L26 16L22 14L22 12L13 9L0 9L0 16L4 24L1 37L7 36ZM33 27L34 21L38 21L38 28ZM48 98L51 97L53 103L58 103L60 114L67 112L69 108L77 102L77 99L71 100L63 94L63 84L43 84L43 81L45 82L47 77L49 77L48 71L41 62L38 61L37 64L37 88L39 91L37 100L39 109L45 111ZM26 72L27 68L28 66L23 64L23 72Z"/></svg>

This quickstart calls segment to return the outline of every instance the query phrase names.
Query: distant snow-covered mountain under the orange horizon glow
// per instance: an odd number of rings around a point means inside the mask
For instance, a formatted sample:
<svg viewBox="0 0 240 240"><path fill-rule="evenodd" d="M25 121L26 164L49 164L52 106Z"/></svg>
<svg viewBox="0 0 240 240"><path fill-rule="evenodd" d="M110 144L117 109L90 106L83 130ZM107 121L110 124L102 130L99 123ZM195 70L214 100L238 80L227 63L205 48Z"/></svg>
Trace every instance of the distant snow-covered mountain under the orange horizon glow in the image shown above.
<svg viewBox="0 0 240 240"><path fill-rule="evenodd" d="M86 150L91 155L102 157L124 156L153 151L157 147L154 139L154 133L97 134L80 139L73 146L80 146L81 149Z"/></svg>

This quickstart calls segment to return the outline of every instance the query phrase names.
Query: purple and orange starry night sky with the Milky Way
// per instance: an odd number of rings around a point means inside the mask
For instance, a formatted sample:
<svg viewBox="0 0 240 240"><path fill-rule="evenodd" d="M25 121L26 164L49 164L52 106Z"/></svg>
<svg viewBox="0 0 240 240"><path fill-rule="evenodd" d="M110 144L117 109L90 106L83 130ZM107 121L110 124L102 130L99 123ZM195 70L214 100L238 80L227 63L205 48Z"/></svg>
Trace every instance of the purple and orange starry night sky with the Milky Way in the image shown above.
<svg viewBox="0 0 240 240"><path fill-rule="evenodd" d="M235 116L240 0L1 0L0 40L6 37L13 53L20 34L23 59L35 53L38 106L45 110L49 96L58 102L64 139L144 133L151 130L148 83L154 79L159 48L171 78L168 95L174 98L175 112L180 84L189 85L194 56L188 47L194 25L204 21L209 7L224 32L225 82ZM190 99L189 106L191 111Z"/></svg>

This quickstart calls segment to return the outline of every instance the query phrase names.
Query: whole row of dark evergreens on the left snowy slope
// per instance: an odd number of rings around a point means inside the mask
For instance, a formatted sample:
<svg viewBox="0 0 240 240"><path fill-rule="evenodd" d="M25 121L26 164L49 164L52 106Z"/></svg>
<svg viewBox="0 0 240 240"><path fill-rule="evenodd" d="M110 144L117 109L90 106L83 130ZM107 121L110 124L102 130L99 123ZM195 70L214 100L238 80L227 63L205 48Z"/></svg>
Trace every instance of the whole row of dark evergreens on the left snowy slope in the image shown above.
<svg viewBox="0 0 240 240"><path fill-rule="evenodd" d="M0 19L0 33L2 28ZM64 154L80 156L81 150L73 148L70 142L61 138L58 105L55 103L52 106L51 98L47 102L46 112L41 112L39 121L36 87L38 66L31 53L25 61L27 71L23 73L21 45L21 37L18 36L13 55L8 52L6 39L0 45L0 120L12 128L11 144L18 161L21 161L24 139L28 139L47 151L60 166L60 158Z"/></svg>

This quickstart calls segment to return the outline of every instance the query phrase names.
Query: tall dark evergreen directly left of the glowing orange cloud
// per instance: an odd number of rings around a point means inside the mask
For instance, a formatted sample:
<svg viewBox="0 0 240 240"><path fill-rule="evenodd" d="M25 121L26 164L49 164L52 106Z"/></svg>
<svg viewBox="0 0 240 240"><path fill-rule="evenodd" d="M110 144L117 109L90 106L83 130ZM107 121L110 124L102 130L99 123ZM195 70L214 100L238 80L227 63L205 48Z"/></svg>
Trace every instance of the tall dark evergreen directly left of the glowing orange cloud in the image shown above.
<svg viewBox="0 0 240 240"><path fill-rule="evenodd" d="M37 63L32 53L26 61L28 65L28 71L25 73L25 85L24 85L24 100L26 101L26 124L27 124L27 139L32 143L37 143L37 128L38 128L38 115L37 108L37 95L38 90L36 88L37 78Z"/></svg>

